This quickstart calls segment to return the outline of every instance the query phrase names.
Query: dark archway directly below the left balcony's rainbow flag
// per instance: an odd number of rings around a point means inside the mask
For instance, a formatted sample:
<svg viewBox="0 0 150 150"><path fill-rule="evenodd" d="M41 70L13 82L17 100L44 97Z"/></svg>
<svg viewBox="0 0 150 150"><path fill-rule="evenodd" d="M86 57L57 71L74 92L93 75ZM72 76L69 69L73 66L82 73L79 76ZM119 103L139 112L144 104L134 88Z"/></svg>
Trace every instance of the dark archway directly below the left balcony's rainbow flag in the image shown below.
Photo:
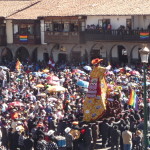
<svg viewBox="0 0 150 150"><path fill-rule="evenodd" d="M16 51L16 59L19 59L20 61L28 61L29 56L29 52L25 47L20 47Z"/></svg>

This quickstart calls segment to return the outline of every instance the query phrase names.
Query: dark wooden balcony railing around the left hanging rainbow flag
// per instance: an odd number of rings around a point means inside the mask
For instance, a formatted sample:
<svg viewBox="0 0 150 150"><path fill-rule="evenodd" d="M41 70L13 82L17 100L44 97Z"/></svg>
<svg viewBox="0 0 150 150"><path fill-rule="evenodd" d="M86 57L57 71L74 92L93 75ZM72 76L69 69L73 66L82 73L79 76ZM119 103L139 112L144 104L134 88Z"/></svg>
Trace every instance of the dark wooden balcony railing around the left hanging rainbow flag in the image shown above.
<svg viewBox="0 0 150 150"><path fill-rule="evenodd" d="M14 35L14 44L41 44L41 39L40 36L35 36L35 35L26 35L27 40L26 41L21 41L20 35L16 34Z"/></svg>

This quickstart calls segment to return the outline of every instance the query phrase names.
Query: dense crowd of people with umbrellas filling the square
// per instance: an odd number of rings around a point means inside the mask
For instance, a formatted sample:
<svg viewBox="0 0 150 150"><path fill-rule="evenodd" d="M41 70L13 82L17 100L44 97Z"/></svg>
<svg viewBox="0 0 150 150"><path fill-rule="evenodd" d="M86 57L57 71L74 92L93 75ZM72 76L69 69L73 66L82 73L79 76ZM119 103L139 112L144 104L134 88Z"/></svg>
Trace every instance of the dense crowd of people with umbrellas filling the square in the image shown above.
<svg viewBox="0 0 150 150"><path fill-rule="evenodd" d="M21 71L0 67L1 149L94 150L98 139L102 139L101 148L142 149L142 66L112 66L106 72L107 111L96 122L83 121L87 87L77 85L77 81L90 80L85 64L55 65L51 69L38 64L23 66ZM128 105L131 89L138 96L136 110ZM147 111L150 121L150 66Z"/></svg>

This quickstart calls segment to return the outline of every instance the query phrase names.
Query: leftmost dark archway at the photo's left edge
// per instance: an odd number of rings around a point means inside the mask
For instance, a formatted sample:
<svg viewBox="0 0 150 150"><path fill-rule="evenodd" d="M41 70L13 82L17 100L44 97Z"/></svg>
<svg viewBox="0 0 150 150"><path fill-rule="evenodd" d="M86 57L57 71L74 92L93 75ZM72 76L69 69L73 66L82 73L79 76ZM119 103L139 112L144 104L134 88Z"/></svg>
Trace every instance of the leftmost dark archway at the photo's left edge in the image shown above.
<svg viewBox="0 0 150 150"><path fill-rule="evenodd" d="M4 48L1 53L1 59L3 63L13 60L13 54L9 48Z"/></svg>

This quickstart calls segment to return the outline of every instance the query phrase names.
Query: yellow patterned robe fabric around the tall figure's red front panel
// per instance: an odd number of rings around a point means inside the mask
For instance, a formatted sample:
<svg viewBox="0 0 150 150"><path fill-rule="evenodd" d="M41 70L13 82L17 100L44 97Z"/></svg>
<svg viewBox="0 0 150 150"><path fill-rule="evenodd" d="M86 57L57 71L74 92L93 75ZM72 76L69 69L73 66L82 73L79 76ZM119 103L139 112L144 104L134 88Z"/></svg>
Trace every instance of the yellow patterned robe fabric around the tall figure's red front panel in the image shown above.
<svg viewBox="0 0 150 150"><path fill-rule="evenodd" d="M83 120L84 121L94 121L99 119L106 110L106 92L107 85L105 82L105 73L106 69L104 67L94 67L90 77L91 79L99 79L101 95L97 95L96 97L89 98L86 96L84 104L83 104Z"/></svg>

